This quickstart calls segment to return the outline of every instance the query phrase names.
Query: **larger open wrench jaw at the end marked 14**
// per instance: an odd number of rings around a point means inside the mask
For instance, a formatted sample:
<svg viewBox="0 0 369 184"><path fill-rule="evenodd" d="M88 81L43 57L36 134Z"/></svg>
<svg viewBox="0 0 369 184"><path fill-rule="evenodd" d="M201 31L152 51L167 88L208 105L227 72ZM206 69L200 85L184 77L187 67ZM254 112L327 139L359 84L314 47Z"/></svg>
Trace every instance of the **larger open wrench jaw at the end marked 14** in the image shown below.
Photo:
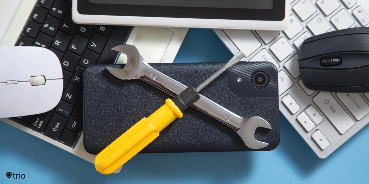
<svg viewBox="0 0 369 184"><path fill-rule="evenodd" d="M137 47L133 45L119 45L111 48L111 50L118 51L127 55L127 64L123 69L112 68L106 66L106 69L122 80L137 79L137 73L142 68L142 65L147 65Z"/></svg>

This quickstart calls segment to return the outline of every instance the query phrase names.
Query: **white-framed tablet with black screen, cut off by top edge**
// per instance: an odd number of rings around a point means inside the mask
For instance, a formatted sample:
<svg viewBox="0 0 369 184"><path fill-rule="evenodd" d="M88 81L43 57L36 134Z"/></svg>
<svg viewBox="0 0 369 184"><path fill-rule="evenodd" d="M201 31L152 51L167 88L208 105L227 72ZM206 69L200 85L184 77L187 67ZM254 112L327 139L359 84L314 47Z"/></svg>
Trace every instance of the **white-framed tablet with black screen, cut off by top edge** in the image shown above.
<svg viewBox="0 0 369 184"><path fill-rule="evenodd" d="M283 30L289 0L73 0L77 24Z"/></svg>

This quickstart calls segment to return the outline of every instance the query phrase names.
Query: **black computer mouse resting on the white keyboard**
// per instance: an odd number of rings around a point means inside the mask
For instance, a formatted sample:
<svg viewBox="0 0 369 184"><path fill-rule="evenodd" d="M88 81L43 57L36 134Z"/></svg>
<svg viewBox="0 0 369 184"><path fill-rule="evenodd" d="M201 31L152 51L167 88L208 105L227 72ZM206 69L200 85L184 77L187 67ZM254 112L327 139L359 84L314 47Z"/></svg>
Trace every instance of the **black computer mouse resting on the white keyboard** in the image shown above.
<svg viewBox="0 0 369 184"><path fill-rule="evenodd" d="M342 29L306 39L299 66L302 82L311 90L369 92L369 28Z"/></svg>

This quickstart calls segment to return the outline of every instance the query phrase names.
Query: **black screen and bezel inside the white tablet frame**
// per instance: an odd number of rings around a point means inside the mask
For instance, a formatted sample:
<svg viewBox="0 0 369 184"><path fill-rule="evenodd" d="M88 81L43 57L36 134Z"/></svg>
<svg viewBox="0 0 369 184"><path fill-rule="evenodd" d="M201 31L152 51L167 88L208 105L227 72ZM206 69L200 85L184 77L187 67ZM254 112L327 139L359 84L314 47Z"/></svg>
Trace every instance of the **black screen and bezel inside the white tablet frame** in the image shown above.
<svg viewBox="0 0 369 184"><path fill-rule="evenodd" d="M286 0L78 0L89 15L281 21Z"/></svg>

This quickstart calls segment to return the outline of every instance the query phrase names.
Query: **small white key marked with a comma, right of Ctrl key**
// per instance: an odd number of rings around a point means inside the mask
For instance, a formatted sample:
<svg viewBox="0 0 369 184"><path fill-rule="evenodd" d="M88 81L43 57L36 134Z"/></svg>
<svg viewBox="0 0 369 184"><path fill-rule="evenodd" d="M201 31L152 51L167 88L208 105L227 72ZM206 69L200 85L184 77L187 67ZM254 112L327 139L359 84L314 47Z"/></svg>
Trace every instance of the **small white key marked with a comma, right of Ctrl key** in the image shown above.
<svg viewBox="0 0 369 184"><path fill-rule="evenodd" d="M279 61L283 61L294 51L292 46L287 42L287 40L284 37L278 39L275 43L273 43L269 47L269 49L279 59Z"/></svg>

